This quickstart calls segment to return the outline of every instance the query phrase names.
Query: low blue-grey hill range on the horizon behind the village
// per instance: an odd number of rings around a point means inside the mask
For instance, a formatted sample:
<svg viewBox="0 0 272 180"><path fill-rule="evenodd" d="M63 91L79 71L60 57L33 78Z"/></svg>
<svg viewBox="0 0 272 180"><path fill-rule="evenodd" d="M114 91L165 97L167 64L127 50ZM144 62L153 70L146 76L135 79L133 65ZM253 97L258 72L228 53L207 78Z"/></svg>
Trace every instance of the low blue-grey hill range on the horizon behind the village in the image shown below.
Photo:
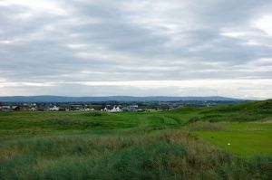
<svg viewBox="0 0 272 180"><path fill-rule="evenodd" d="M0 97L0 102L105 102L105 101L238 101L245 99L232 99L219 96L210 97L167 97L167 96L108 96L108 97L64 97L64 96L10 96Z"/></svg>

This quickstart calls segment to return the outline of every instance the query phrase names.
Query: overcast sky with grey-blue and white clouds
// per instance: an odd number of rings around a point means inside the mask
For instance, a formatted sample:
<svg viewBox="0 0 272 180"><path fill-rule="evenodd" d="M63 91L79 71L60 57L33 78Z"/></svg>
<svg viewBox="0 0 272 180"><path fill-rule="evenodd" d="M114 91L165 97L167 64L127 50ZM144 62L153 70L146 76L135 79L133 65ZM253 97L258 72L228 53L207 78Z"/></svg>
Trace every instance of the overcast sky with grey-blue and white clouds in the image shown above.
<svg viewBox="0 0 272 180"><path fill-rule="evenodd" d="M1 0L0 96L272 98L272 0Z"/></svg>

